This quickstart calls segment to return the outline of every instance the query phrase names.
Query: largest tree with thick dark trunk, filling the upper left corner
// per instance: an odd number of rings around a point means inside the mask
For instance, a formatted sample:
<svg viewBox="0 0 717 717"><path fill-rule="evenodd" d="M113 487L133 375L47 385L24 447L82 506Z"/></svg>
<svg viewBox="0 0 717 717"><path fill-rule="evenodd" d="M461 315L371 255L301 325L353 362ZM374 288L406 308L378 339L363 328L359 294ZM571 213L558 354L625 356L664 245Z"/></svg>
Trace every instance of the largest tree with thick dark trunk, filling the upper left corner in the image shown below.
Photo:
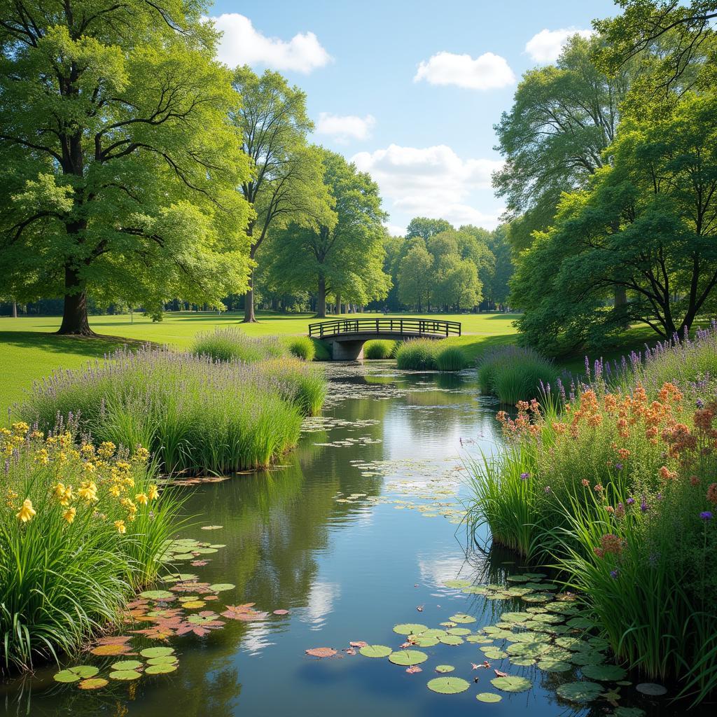
<svg viewBox="0 0 717 717"><path fill-rule="evenodd" d="M239 96L197 0L0 6L0 273L18 300L158 312L243 290L249 175Z"/></svg>

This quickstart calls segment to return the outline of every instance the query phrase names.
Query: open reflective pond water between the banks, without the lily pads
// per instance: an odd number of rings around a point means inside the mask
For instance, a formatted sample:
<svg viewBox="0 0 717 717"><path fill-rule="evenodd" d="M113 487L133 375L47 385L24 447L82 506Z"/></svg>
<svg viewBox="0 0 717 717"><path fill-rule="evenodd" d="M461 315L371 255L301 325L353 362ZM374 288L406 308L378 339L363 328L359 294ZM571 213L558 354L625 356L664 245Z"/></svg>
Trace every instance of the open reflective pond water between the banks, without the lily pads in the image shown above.
<svg viewBox="0 0 717 717"><path fill-rule="evenodd" d="M466 555L460 525L465 485L460 470L467 452L500 450L497 407L482 397L475 374L401 374L389 364L333 366L328 405L308 423L300 445L284 467L239 475L196 487L186 511L198 515L182 537L223 544L205 566L179 566L209 583L237 587L204 609L256 603L270 613L258 622L228 620L206 637L172 637L179 669L143 675L133 683L110 681L102 690L52 680L56 669L22 684L0 686L0 714L107 715L131 717L304 716L419 717L454 715L587 716L610 714L600 699L592 708L571 706L554 689L579 678L543 673L535 667L491 660L494 668L523 675L533 688L500 693L499 703L475 695L495 692L493 670L482 663L481 645L417 648L429 659L422 672L407 674L386 659L349 656L349 641L398 649L398 623L438 627L455 613L477 622L474 632L493 625L502 609L525 609L480 595L448 589L444 582L466 579L505 582L519 562L509 554ZM356 495L359 494L359 495ZM221 529L203 531L201 526ZM163 586L159 586L163 587ZM421 607L419 611L417 608ZM500 644L500 641L496 641ZM141 642L142 647L162 644ZM333 647L337 657L305 655L312 647ZM133 657L82 658L103 668ZM455 665L451 676L470 681L456 695L426 687L439 677L436 665ZM478 684L473 678L478 677ZM629 679L629 678L628 678ZM608 687L606 687L607 689ZM4 690L4 691L2 691ZM639 705L650 716L672 716L658 701L619 688L619 704ZM696 712L695 712L696 713Z"/></svg>

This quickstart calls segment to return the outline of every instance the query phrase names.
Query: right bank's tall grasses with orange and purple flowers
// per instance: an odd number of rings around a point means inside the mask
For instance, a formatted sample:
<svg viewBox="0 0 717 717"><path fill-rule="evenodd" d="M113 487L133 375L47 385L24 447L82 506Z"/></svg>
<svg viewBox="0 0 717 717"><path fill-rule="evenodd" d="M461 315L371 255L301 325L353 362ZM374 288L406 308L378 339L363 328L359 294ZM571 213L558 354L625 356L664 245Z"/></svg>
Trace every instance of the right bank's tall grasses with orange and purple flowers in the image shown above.
<svg viewBox="0 0 717 717"><path fill-rule="evenodd" d="M618 662L698 703L717 688L717 323L586 366L498 414L507 447L469 461L469 523L556 568Z"/></svg>

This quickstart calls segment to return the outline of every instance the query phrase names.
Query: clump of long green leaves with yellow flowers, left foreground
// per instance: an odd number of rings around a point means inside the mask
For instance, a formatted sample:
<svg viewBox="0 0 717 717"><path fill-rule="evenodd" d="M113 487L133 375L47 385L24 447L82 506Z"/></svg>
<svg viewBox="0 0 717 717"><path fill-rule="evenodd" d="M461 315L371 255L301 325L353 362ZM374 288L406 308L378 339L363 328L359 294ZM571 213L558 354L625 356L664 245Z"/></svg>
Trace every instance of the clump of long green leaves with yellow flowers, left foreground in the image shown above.
<svg viewBox="0 0 717 717"><path fill-rule="evenodd" d="M156 577L180 503L148 452L0 429L0 673L74 652Z"/></svg>

